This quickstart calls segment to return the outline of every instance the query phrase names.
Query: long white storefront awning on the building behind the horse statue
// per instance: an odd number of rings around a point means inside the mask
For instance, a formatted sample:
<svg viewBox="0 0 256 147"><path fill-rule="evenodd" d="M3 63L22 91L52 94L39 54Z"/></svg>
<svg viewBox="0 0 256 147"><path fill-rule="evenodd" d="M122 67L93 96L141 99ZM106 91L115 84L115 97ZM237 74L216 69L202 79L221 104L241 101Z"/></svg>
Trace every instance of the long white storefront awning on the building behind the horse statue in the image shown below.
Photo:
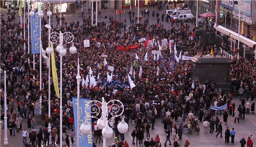
<svg viewBox="0 0 256 147"><path fill-rule="evenodd" d="M218 25L218 26L214 26L215 29L219 32L222 32L223 34L230 36L233 39L238 40L238 33L231 31L230 29L226 29L225 27ZM246 38L245 36L240 35L240 42L244 43L245 45L249 46L249 47L254 47L256 46L256 42Z"/></svg>

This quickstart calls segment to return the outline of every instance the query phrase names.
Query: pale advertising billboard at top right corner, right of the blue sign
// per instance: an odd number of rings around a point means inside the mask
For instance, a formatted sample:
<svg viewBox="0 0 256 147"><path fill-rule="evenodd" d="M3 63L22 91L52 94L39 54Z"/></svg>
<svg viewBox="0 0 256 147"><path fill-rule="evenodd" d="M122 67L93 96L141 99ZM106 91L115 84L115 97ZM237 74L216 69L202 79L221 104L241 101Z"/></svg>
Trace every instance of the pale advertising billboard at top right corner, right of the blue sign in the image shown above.
<svg viewBox="0 0 256 147"><path fill-rule="evenodd" d="M234 11L239 12L239 4L234 5ZM240 12L252 16L252 0L241 0Z"/></svg>

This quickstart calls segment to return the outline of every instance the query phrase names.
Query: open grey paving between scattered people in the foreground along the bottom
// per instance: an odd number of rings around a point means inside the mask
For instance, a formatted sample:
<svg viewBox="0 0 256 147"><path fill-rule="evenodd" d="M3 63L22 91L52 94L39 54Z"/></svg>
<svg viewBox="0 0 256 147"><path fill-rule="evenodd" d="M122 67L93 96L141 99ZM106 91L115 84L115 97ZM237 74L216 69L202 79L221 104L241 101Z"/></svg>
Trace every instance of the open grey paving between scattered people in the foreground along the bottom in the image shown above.
<svg viewBox="0 0 256 147"><path fill-rule="evenodd" d="M238 100L238 97L234 98L234 101L236 103L236 106L238 106L238 104L240 104L240 101ZM251 103L251 102L250 102ZM218 115L220 118L220 121L223 122L223 118L222 115ZM2 125L2 124L1 124ZM223 138L220 138L220 136L218 136L218 138L216 138L216 134L217 133L213 133L213 134L204 134L203 133L203 126L202 123L200 125L200 133L197 136L197 134L192 134L192 135L187 135L187 134L183 134L182 136L182 140L179 140L178 142L180 143L181 147L184 147L184 142L185 142L185 138L188 138L188 140L190 141L190 146L189 147L240 147L240 143L239 141L241 140L242 137L245 137L245 140L247 141L247 138L249 135L256 135L256 115L250 113L249 115L245 115L245 120L240 120L240 123L234 123L234 117L230 116L228 117L228 125L227 125L230 129L235 128L236 130L236 136L235 136L235 142L234 143L229 143L226 144L225 143L225 138L224 138L224 133L226 130L226 126L222 124L222 128L223 128ZM27 127L26 125L26 119L23 122L23 127ZM36 128L39 128L39 125L36 125ZM144 147L144 145L133 145L132 144L132 130L134 128L134 125L132 125L132 121L129 121L129 130L127 133L125 133L124 137L125 140L128 141L129 143L129 147ZM210 130L209 130L210 131ZM28 132L30 132L30 129L28 129ZM68 130L68 134L70 134L70 130ZM160 142L163 144L166 140L166 133L164 132L163 129L163 124L161 123L161 119L157 119L156 123L155 123L155 129L154 130L150 130L150 135L151 137L155 137L156 134L159 134L160 136ZM144 133L144 137L146 137L146 133ZM167 145L167 147L173 147L173 141L172 137L170 137L171 139L171 143L172 145ZM253 142L255 143L255 137L253 139ZM27 139L29 140L29 139ZM231 138L230 138L231 140ZM21 135L21 131L20 133L16 133L16 136L9 136L9 130L8 130L8 141L9 141L9 145L4 146L4 129L0 129L0 147L23 147L23 143L22 143L22 135ZM144 141L144 140L143 140ZM70 141L71 143L71 141ZM109 139L106 140L106 144L110 145L111 143L113 143L113 139ZM63 144L65 144L65 141L63 142ZM96 144L97 147L102 147L103 144ZM75 147L74 145L71 145L71 147Z"/></svg>

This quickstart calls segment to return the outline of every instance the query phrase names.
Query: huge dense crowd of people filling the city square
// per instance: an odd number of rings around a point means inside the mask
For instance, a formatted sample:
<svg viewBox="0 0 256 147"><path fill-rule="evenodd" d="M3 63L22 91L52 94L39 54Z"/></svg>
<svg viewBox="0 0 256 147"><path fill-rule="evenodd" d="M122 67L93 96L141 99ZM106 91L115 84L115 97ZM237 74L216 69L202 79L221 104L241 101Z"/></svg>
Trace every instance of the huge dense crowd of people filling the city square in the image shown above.
<svg viewBox="0 0 256 147"><path fill-rule="evenodd" d="M153 16L153 15L152 15ZM159 16L159 14L158 14ZM130 16L132 18L132 16ZM130 18L130 20L131 20ZM149 25L148 23L131 24L127 26L126 20L119 22L109 17L108 22L98 22L98 26L91 26L90 18L84 18L83 21L62 22L56 25L52 24L52 32L72 32L74 35L74 45L77 48L77 54L67 54L63 57L63 126L60 126L60 100L56 97L56 93L51 80L51 119L48 119L48 68L45 61L42 65L42 90L39 89L39 55L35 55L35 70L33 70L32 56L27 54L27 50L23 49L23 27L27 28L27 23L20 24L18 22L2 21L1 23L1 77L3 71L7 72L7 104L8 104L8 128L10 136L15 136L19 130L22 131L23 143L26 146L32 144L36 146L49 143L50 133L52 135L52 144L60 143L60 135L69 145L69 138L73 140L75 132L73 130L74 114L72 97L76 97L77 84L77 57L79 57L80 75L86 79L90 68L93 71L97 86L86 87L82 85L81 97L91 100L101 100L102 97L106 101L117 99L120 100L125 107L125 121L129 123L130 128L134 127L132 132L132 143L125 141L123 134L118 132L115 126L115 141L124 141L124 146L128 144L144 144L145 147L160 147L160 144L169 142L170 138L175 140L174 147L178 147L178 140L183 139L183 134L199 133L199 123L203 122L204 133L218 132L222 137L222 122L227 125L227 117L234 116L234 122L239 123L240 119L245 119L245 114L253 113L254 97L256 95L256 62L252 59L237 60L234 59L230 65L231 86L230 92L226 93L218 89L214 81L194 81L191 76L192 62L177 61L174 57L173 47L171 52L169 45L167 50L161 50L160 59L153 60L154 54L152 50L158 50L158 45L148 44L144 47L144 43L139 43L137 49L121 51L117 49L118 45L127 47L138 43L138 40L145 38L146 40L155 40L157 42L162 39L173 39L174 43L184 44L189 48L180 50L186 56L194 56L196 52L193 48L195 40L192 39L196 31L196 27L189 29L187 24L181 23L180 27L170 26L164 27L161 23ZM48 29L43 27L47 24L46 17L42 19L42 48L48 47ZM127 28L127 29L126 29ZM169 28L169 29L168 29ZM27 30L27 29L26 29ZM27 32L26 32L27 33ZM90 40L90 47L83 47L83 40ZM26 44L27 45L27 44ZM70 47L72 44L69 44ZM67 46L67 49L69 48ZM178 50L178 54L180 52ZM145 54L148 54L147 61L144 60ZM207 50L209 53L210 50ZM135 54L139 56L136 59ZM104 66L104 58L107 65ZM30 61L28 61L30 58ZM55 51L57 75L60 75L60 57ZM100 66L99 66L100 65ZM107 83L108 65L114 67L113 81ZM174 66L173 66L174 65ZM135 83L135 87L130 89L128 74L130 67L132 72L131 78ZM139 67L143 72L139 77ZM159 68L159 75L157 71ZM135 75L134 75L135 74ZM33 78L34 77L34 78ZM3 78L1 78L3 79ZM60 79L59 79L60 81ZM241 104L235 105L233 102L233 93L240 94ZM42 95L40 108L39 96ZM250 99L250 101L249 101ZM248 100L248 101L246 101ZM211 105L216 107L228 103L227 109L214 111L210 109ZM4 84L1 80L1 106L4 104ZM39 110L41 109L41 110ZM36 128L38 122L35 116L40 115L40 119L45 120L45 125ZM3 112L3 111L1 111ZM218 112L220 115L218 115ZM221 115L223 112L223 121ZM27 122L23 122L23 119ZM161 119L163 130L166 132L166 141L160 140L158 134L150 134L150 129L154 129L156 119ZM1 114L1 120L4 122L4 115ZM121 118L111 119L115 125ZM48 132L48 121L51 121L51 132ZM94 120L93 120L94 121ZM26 131L24 125L31 128ZM94 124L95 125L95 124ZM4 123L2 124L4 127ZM63 134L60 134L60 127ZM32 129L38 129L34 132ZM67 130L72 130L67 135ZM228 127L227 127L228 130ZM229 143L229 136L233 131L225 132L225 142ZM101 130L94 129L94 145L102 141ZM146 135L147 134L147 135ZM218 136L216 135L216 137ZM153 136L155 135L155 136ZM26 141L26 137L30 138L30 142ZM178 139L177 139L178 137ZM250 140L252 136L250 136ZM246 141L248 144L251 141ZM144 142L143 142L144 141ZM245 144L241 140L241 145ZM233 143L233 140L231 141ZM186 138L185 147L189 142ZM131 146L131 145L130 145ZM167 146L167 145L166 145Z"/></svg>

